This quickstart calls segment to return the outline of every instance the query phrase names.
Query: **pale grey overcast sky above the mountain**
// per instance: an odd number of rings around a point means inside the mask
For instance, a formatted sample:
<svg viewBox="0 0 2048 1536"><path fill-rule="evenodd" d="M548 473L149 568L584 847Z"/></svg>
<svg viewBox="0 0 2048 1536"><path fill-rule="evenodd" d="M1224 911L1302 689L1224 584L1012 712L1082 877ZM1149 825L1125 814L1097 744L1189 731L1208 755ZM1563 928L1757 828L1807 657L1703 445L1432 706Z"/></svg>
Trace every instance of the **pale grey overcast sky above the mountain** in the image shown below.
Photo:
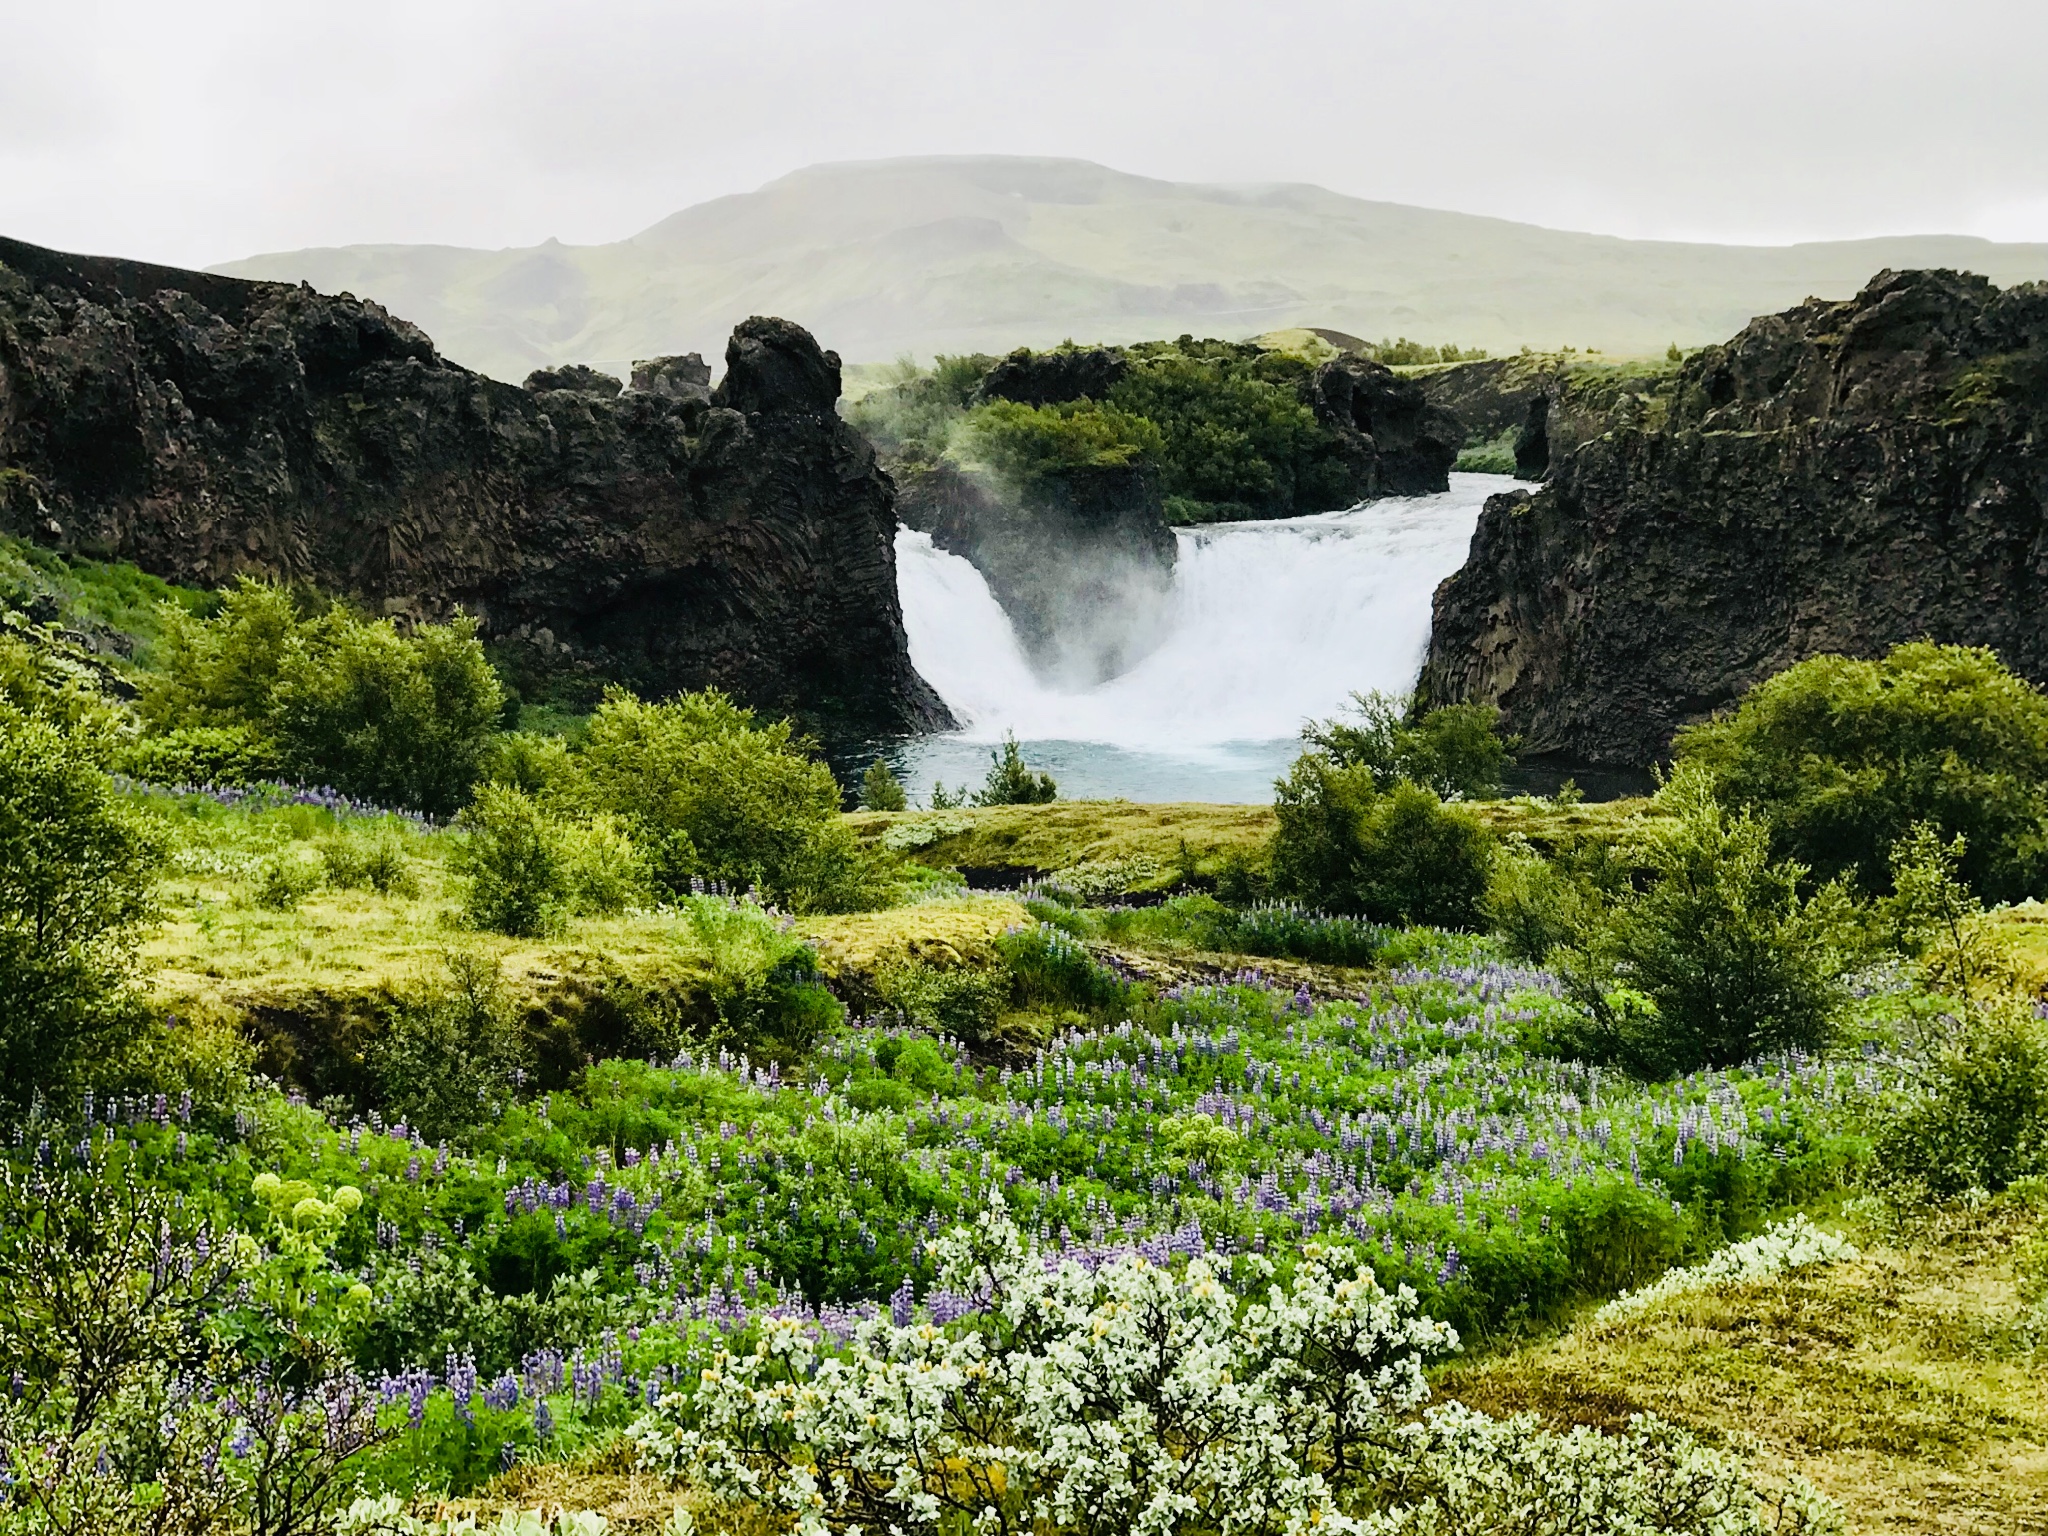
<svg viewBox="0 0 2048 1536"><path fill-rule="evenodd" d="M1622 236L2048 240L2044 0L0 0L0 233L618 240L1055 154Z"/></svg>

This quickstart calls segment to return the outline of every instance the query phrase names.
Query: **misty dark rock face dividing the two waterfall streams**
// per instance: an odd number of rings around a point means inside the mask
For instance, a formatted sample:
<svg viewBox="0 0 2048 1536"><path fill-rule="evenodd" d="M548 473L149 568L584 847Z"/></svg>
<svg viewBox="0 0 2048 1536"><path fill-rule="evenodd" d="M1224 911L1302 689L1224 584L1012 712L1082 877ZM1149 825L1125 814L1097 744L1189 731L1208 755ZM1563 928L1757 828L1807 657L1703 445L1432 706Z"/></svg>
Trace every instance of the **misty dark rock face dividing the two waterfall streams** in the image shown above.
<svg viewBox="0 0 2048 1536"><path fill-rule="evenodd" d="M1165 633L1178 545L1139 467L1049 475L1024 492L940 463L897 471L897 514L981 571L1040 676L1085 688Z"/></svg>

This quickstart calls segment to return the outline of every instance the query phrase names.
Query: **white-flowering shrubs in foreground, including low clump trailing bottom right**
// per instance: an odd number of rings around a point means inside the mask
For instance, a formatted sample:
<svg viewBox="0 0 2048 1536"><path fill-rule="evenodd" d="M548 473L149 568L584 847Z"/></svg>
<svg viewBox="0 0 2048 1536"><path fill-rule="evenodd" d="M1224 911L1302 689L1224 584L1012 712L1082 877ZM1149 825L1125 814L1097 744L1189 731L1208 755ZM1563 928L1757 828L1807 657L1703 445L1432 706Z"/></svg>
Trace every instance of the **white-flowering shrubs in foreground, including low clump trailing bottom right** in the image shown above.
<svg viewBox="0 0 2048 1536"><path fill-rule="evenodd" d="M770 1319L633 1425L641 1460L799 1536L1827 1530L1817 1495L1774 1516L1735 1462L1649 1419L1415 1419L1456 1333L1321 1245L1286 1286L1239 1260L1264 1294L1208 1257L1055 1260L999 1208L936 1255L938 1321L872 1319L836 1350Z"/></svg>

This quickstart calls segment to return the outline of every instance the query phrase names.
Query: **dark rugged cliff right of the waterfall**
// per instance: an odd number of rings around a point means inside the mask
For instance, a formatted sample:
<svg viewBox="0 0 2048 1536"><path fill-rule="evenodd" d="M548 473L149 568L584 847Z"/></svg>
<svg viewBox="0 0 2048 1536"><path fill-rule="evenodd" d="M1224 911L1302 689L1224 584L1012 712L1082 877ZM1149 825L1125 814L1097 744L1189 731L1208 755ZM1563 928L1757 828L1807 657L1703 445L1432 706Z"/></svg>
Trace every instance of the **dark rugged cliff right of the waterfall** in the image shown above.
<svg viewBox="0 0 2048 1536"><path fill-rule="evenodd" d="M1991 645L2048 682L2048 287L1882 272L1686 360L1495 496L1421 686L1651 762L1808 655Z"/></svg>

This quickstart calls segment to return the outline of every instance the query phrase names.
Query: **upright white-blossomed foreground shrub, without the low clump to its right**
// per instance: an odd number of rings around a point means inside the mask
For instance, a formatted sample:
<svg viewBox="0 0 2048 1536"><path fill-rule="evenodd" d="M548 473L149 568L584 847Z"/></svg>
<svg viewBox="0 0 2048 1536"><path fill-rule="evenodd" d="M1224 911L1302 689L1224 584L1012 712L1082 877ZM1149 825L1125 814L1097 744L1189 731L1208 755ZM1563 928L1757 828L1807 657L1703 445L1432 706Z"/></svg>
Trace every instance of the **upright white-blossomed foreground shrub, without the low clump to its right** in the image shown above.
<svg viewBox="0 0 2048 1536"><path fill-rule="evenodd" d="M1296 1530L1337 1518L1327 1473L1417 1407L1423 1362L1458 1341L1319 1247L1262 1303L1206 1257L1051 1262L1001 1212L936 1257L967 1317L874 1319L844 1354L768 1321L635 1425L643 1458L801 1536Z"/></svg>

